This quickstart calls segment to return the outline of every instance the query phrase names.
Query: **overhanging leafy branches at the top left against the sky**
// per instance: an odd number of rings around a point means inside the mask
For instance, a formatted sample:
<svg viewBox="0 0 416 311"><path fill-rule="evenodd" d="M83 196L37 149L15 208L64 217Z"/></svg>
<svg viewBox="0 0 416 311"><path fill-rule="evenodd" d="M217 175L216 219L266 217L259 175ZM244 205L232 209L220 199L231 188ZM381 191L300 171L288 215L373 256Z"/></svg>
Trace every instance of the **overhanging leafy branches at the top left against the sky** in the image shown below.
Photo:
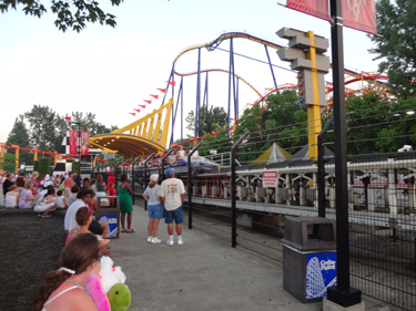
<svg viewBox="0 0 416 311"><path fill-rule="evenodd" d="M0 2L0 12L4 13L12 8L17 10L18 4L22 4L22 11L28 15L41 18L47 12L41 0L2 0ZM110 0L112 6L119 6L123 0ZM57 14L54 21L55 27L65 32L68 29L73 29L80 32L87 27L87 23L99 22L100 24L108 24L115 27L115 15L105 13L97 1L88 0L72 0L72 1L57 1L51 0L51 11Z"/></svg>

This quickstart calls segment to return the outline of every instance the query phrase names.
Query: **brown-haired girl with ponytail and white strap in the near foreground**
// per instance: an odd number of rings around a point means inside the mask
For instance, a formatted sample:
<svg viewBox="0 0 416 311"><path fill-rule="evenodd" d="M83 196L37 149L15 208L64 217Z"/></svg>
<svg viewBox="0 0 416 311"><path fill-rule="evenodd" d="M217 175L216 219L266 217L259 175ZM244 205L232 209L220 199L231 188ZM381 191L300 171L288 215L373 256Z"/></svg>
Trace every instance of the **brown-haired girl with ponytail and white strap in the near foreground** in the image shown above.
<svg viewBox="0 0 416 311"><path fill-rule="evenodd" d="M60 256L61 267L47 274L30 311L94 311L85 280L100 271L100 247L94 235L71 240Z"/></svg>

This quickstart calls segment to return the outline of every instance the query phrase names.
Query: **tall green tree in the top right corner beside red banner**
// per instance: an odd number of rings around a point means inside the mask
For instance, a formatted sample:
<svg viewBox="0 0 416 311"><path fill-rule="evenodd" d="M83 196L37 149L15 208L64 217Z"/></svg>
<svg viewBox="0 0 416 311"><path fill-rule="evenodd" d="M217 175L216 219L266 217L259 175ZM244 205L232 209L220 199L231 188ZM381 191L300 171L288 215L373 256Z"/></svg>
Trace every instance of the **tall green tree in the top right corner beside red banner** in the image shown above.
<svg viewBox="0 0 416 311"><path fill-rule="evenodd" d="M368 34L376 44L369 52L383 59L379 72L388 73L392 91L399 96L415 95L416 85L416 1L379 0L377 2L377 32Z"/></svg>

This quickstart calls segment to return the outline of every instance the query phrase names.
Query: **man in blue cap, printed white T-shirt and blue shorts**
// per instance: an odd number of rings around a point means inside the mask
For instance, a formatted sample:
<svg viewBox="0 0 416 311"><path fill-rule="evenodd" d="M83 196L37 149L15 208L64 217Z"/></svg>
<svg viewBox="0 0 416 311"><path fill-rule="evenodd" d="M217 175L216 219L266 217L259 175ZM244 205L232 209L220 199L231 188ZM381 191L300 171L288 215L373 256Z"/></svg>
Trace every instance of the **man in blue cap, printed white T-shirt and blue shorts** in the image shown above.
<svg viewBox="0 0 416 311"><path fill-rule="evenodd" d="M165 224L168 224L169 240L168 245L173 246L173 219L176 224L177 245L183 245L182 222L183 222L183 200L185 199L185 187L181 179L174 178L175 170L166 169L168 179L163 180L159 189L159 200L164 205Z"/></svg>

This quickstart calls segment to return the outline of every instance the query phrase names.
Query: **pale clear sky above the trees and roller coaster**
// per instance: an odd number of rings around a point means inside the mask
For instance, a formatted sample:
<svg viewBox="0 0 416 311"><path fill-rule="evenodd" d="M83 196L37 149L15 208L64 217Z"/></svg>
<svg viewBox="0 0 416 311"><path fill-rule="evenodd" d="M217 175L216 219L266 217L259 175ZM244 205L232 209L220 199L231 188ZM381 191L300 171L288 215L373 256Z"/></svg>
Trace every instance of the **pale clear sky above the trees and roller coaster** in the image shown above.
<svg viewBox="0 0 416 311"><path fill-rule="evenodd" d="M284 2L284 0L280 0ZM162 103L175 56L191 45L203 44L231 31L247 32L286 45L275 32L283 27L331 38L329 23L278 6L276 0L124 0L112 7L110 0L100 7L116 15L116 27L88 24L77 33L62 33L48 8L41 19L24 15L18 10L0 14L0 142L6 142L19 114L33 105L47 105L60 115L71 112L92 112L100 123L123 127L151 113ZM329 43L331 44L331 43ZM220 48L229 50L230 41ZM376 72L377 63L368 53L373 48L364 32L344 28L345 66ZM234 52L267 61L262 44L246 39L234 39ZM268 49L274 65L288 69L275 50ZM331 56L331 48L326 53ZM260 93L273 86L268 65L235 55L235 73L244 77ZM229 53L201 50L201 69L229 68ZM184 54L175 65L181 73L197 69L197 52ZM274 68L278 85L295 83L295 73ZM209 105L227 108L229 80L225 73L209 74ZM180 81L175 76L175 81ZM332 81L331 74L325 75ZM196 75L184 83L183 117L195 110ZM202 75L202 92L205 75ZM179 83L174 90L176 102ZM159 94L154 100L150 94ZM171 94L171 92L169 92ZM240 84L240 113L258 96ZM148 105L144 100L152 100ZM202 97L201 97L202 102ZM135 116L129 114L138 105L146 105ZM174 126L174 138L180 137L180 108ZM172 124L171 124L172 125ZM184 129L185 133L185 129Z"/></svg>

